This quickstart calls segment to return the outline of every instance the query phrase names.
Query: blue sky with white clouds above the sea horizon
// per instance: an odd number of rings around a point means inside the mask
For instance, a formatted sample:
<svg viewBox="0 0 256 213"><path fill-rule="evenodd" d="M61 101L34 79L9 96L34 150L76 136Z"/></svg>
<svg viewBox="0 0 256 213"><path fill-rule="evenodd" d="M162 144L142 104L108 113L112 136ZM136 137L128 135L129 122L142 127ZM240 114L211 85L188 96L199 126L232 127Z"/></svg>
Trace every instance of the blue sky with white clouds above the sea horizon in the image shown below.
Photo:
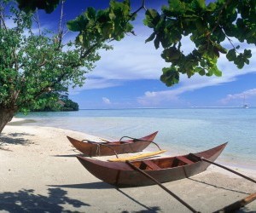
<svg viewBox="0 0 256 213"><path fill-rule="evenodd" d="M131 0L134 9L142 1ZM160 9L167 0L148 0L147 7ZM156 4L156 5L154 5ZM67 0L64 7L65 19L75 18L88 6L106 8L108 0ZM52 15L44 16L44 25L51 25ZM161 69L168 66L161 59L161 49L154 49L154 43L145 43L151 30L143 26L143 14L134 22L137 36L127 36L120 42L113 42L113 50L101 51L102 59L96 63L93 72L86 75L82 88L70 89L69 97L84 108L137 108L137 107L241 107L245 97L249 106L256 106L256 62L255 46L250 65L239 70L220 57L218 68L223 77L187 78L180 83L166 87L160 82ZM69 33L67 37L74 37ZM236 43L236 40L233 40ZM228 42L224 45L229 46ZM241 47L245 47L241 45ZM183 39L184 52L193 49L189 38Z"/></svg>

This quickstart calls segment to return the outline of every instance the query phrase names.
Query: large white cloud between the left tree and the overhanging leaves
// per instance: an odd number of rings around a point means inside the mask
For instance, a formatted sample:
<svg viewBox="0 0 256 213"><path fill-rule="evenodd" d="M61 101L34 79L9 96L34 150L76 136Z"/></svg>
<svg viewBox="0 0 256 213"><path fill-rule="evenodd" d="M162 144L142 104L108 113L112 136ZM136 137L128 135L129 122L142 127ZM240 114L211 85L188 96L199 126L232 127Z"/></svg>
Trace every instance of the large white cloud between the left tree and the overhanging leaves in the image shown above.
<svg viewBox="0 0 256 213"><path fill-rule="evenodd" d="M113 50L101 51L102 59L90 73L91 78L111 80L158 79L165 61L153 43L145 43L145 37L126 37L114 42Z"/></svg>

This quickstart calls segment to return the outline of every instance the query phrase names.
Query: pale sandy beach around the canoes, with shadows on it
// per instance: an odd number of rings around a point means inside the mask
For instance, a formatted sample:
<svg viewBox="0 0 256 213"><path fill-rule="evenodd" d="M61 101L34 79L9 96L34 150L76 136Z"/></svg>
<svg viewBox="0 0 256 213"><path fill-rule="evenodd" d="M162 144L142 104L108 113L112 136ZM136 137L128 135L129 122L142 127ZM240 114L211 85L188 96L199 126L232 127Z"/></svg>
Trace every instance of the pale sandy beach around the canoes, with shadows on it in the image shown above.
<svg viewBox="0 0 256 213"><path fill-rule="evenodd" d="M189 212L158 186L116 189L96 179L74 158L77 152L66 135L97 138L72 130L6 126L0 147L0 211ZM233 169L256 178L256 170ZM197 176L164 185L201 212L256 192L253 182L212 165ZM255 201L241 212L253 210Z"/></svg>

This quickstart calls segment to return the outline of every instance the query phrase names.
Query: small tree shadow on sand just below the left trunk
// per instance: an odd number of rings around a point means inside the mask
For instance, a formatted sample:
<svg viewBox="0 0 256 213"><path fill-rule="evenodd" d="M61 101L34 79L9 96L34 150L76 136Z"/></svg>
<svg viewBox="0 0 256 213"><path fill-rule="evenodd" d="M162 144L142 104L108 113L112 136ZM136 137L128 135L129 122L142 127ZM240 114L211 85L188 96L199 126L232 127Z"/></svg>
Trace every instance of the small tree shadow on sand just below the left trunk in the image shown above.
<svg viewBox="0 0 256 213"><path fill-rule="evenodd" d="M14 145L29 145L33 144L34 142L31 140L24 139L24 136L27 136L31 134L27 133L1 133L0 135L0 149L3 147L3 145L8 145L8 144L14 144Z"/></svg>

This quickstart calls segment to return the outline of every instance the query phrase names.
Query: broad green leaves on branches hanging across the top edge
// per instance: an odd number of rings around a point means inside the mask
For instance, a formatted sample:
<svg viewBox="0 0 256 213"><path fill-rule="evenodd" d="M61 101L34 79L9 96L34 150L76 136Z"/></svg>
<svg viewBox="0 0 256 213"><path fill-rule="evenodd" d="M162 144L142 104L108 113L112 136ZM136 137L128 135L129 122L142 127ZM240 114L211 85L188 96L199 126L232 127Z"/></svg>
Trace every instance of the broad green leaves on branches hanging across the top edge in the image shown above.
<svg viewBox="0 0 256 213"><path fill-rule="evenodd" d="M33 7L25 1L17 1L23 2L20 9L26 11L35 7L44 9L37 0L32 1ZM50 4L53 9L58 3ZM69 21L67 26L71 31L79 32L77 43L86 48L90 37L97 41L108 37L123 38L127 30L125 24L141 9L146 10L144 25L153 30L146 42L154 41L156 49L161 45L161 57L170 63L169 67L162 69L160 77L167 86L178 83L180 74L186 74L188 78L195 73L221 76L217 66L220 55L225 55L240 69L249 64L251 50L241 49L240 44L256 44L255 0L216 0L208 4L205 0L168 0L168 6L163 6L161 13L146 9L146 0L142 0L142 6L132 14L129 0L122 3L111 0L109 9L104 12L89 8L76 20ZM183 37L189 37L191 45L195 46L187 55L182 49ZM234 39L237 41L232 41ZM230 42L230 48L224 46L224 40Z"/></svg>

